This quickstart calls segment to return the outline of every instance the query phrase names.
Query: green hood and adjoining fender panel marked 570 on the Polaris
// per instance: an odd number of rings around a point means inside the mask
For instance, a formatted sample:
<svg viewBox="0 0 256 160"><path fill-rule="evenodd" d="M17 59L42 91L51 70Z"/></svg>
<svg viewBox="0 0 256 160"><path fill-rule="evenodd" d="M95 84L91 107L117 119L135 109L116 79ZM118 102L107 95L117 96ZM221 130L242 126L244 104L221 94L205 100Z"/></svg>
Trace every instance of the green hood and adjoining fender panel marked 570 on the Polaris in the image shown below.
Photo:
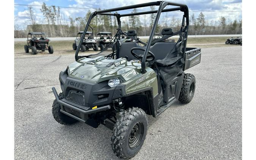
<svg viewBox="0 0 256 160"><path fill-rule="evenodd" d="M126 94L152 87L153 96L158 93L157 77L150 67L146 73L141 74L141 64L129 62L126 58L105 59L104 56L96 58L83 58L69 64L69 77L86 82L100 83L112 78L120 78L122 85L126 85Z"/></svg>

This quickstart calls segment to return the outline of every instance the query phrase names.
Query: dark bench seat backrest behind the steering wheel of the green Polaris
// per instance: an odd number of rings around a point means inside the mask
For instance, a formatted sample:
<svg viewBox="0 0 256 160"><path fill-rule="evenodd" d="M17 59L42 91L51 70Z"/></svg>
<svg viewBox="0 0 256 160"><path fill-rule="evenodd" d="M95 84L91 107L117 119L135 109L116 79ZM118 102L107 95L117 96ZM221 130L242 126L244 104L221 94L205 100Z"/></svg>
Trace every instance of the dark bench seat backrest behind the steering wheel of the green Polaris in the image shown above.
<svg viewBox="0 0 256 160"><path fill-rule="evenodd" d="M117 58L125 58L125 56L128 57L128 61L130 60L136 60L130 50L133 47L141 47L141 48L146 48L146 46L140 46L138 45L137 42L126 42L120 45L119 49L119 56ZM177 54L174 52L176 51L176 43L175 42L157 42L154 45L150 46L149 49L154 55L155 55L155 61L156 60L162 60L163 58L166 57L168 53L170 58L176 57ZM141 50L134 50L135 53L137 54L143 54L144 51ZM174 54L173 54L174 53Z"/></svg>

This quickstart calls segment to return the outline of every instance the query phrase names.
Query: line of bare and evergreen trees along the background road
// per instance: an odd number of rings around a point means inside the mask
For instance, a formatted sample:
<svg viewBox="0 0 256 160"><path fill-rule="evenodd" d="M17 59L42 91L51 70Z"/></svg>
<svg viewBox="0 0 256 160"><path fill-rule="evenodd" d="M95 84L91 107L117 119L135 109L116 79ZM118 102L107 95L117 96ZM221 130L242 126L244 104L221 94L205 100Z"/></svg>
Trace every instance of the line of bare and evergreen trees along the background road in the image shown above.
<svg viewBox="0 0 256 160"><path fill-rule="evenodd" d="M155 6L150 7L151 10L155 10ZM98 8L97 10L101 10ZM85 25L90 17L91 11L88 10L85 17L69 17L69 24L60 12L60 7L46 6L43 3L40 11L44 16L45 23L37 24L36 15L32 6L28 6L26 13L30 24L25 29L20 30L17 24L14 26L14 38L25 38L30 31L43 31L47 37L74 37L78 31L83 31ZM136 8L131 13L137 13ZM165 13L163 13L165 14ZM144 17L144 23L141 21L140 16L122 17L122 30L137 30L138 36L148 36L151 32L152 25L154 24L156 14L150 14L146 19ZM142 16L143 17L143 16ZM156 33L160 32L162 28L172 28L173 31L178 31L181 28L181 18L166 16L161 17L159 24L157 25ZM146 20L148 23L146 23ZM94 36L99 31L110 31L113 34L116 33L118 28L117 20L113 16L100 15L92 19L90 23L94 30ZM209 21L205 15L201 12L198 17L194 14L190 16L189 35L219 35L219 34L242 34L242 20L228 22L226 17L220 17L218 20Z"/></svg>

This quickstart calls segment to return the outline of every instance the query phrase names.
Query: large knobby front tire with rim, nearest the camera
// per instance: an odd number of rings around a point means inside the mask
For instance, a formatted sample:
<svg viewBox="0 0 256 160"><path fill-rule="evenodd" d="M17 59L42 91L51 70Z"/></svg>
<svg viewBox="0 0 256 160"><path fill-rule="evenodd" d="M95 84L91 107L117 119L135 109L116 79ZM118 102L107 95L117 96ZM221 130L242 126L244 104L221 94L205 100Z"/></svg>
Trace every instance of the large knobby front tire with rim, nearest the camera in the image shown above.
<svg viewBox="0 0 256 160"><path fill-rule="evenodd" d="M146 138L148 119L141 108L129 108L120 113L114 126L111 145L119 158L132 158L136 155Z"/></svg>

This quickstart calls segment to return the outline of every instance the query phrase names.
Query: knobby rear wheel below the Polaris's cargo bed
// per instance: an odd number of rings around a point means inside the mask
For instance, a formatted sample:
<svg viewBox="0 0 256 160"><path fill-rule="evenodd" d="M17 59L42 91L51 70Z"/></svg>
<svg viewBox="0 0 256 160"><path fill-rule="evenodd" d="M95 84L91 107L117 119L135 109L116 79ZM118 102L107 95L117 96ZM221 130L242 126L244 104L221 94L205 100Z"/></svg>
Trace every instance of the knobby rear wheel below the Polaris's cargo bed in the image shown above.
<svg viewBox="0 0 256 160"><path fill-rule="evenodd" d="M196 89L196 78L193 74L184 74L179 101L183 104L193 99Z"/></svg>

